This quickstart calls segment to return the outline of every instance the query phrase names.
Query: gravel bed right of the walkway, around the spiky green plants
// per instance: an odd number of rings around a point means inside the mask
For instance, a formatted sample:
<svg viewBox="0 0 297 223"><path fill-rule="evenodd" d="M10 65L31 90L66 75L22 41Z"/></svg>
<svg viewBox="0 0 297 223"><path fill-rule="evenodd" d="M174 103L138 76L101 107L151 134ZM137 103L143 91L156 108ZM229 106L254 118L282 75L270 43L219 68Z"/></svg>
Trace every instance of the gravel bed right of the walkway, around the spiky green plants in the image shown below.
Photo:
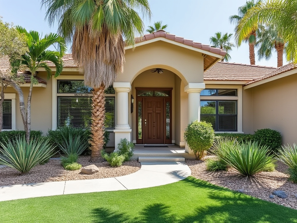
<svg viewBox="0 0 297 223"><path fill-rule="evenodd" d="M192 171L192 176L206 180L218 186L227 187L231 190L240 191L263 200L274 202L297 210L297 184L288 180L286 174L287 166L277 162L276 170L273 172L260 172L254 177L245 178L234 169L229 171L210 172L206 170L204 160L213 158L206 156L202 161L186 160L186 164ZM269 198L275 190L285 191L287 198Z"/></svg>

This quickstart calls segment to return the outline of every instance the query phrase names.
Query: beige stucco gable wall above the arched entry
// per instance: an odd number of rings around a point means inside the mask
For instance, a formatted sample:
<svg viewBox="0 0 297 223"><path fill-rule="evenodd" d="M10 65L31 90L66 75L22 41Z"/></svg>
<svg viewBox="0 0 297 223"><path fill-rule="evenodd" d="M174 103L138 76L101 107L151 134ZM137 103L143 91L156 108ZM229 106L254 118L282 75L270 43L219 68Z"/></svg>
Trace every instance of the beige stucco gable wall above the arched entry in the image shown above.
<svg viewBox="0 0 297 223"><path fill-rule="evenodd" d="M172 71L184 83L203 83L203 56L201 53L170 43L158 41L128 49L126 64L116 82L130 82L143 71L163 68Z"/></svg>

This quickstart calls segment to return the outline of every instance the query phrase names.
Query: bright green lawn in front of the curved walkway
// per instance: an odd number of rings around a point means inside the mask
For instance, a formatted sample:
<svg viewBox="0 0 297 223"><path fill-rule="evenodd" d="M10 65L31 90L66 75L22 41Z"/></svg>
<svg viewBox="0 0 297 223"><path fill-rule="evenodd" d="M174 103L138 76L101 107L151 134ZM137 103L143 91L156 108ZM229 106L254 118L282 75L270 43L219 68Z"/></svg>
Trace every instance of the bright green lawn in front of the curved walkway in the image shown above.
<svg viewBox="0 0 297 223"><path fill-rule="evenodd" d="M4 201L0 222L297 223L297 211L188 177L147 189Z"/></svg>

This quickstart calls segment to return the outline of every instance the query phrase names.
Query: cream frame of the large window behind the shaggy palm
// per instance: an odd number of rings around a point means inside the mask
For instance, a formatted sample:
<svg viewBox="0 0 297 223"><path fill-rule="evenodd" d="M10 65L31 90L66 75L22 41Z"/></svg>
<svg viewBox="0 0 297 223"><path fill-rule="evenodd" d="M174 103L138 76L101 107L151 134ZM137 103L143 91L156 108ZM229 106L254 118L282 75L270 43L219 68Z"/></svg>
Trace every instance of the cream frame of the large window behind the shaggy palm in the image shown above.
<svg viewBox="0 0 297 223"><path fill-rule="evenodd" d="M58 93L58 81L83 81L83 75L60 75L58 77L52 76L52 130L58 128L58 97L90 97L92 94L88 93ZM105 97L114 97L114 128L106 128L106 131L113 132L116 125L116 94L105 94Z"/></svg>

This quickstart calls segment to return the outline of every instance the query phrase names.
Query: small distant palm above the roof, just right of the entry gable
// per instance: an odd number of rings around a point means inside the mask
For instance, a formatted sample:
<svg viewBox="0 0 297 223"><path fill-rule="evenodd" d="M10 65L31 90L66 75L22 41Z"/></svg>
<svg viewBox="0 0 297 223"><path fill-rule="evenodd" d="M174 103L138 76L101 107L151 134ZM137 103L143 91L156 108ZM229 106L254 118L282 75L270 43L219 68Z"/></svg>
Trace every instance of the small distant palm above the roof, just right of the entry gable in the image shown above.
<svg viewBox="0 0 297 223"><path fill-rule="evenodd" d="M228 34L227 32L223 35L221 32L216 32L214 36L209 38L210 44L213 45L212 47L220 48L227 53L222 61L225 59L228 62L231 59L228 52L232 51L232 47L234 47L234 44L230 43L232 35L232 33Z"/></svg>

